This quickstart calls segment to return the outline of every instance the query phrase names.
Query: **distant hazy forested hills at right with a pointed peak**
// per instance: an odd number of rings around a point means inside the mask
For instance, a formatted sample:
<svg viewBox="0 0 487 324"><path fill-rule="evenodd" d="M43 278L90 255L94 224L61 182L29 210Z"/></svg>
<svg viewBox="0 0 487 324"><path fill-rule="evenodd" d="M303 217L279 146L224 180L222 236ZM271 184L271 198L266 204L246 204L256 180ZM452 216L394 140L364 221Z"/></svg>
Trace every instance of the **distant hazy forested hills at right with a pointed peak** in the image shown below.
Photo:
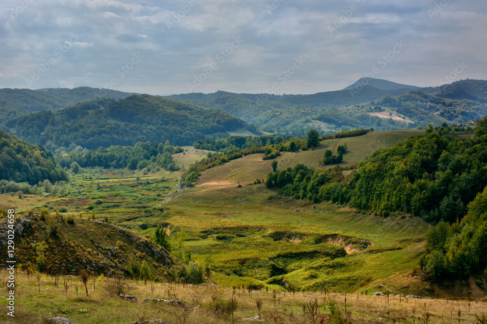
<svg viewBox="0 0 487 324"><path fill-rule="evenodd" d="M464 123L487 114L487 81L483 80L418 88L362 78L354 85L311 95L217 91L169 97L224 110L260 125L263 131L291 136L305 136L313 128L322 134L370 127L377 131L423 128L429 123Z"/></svg>

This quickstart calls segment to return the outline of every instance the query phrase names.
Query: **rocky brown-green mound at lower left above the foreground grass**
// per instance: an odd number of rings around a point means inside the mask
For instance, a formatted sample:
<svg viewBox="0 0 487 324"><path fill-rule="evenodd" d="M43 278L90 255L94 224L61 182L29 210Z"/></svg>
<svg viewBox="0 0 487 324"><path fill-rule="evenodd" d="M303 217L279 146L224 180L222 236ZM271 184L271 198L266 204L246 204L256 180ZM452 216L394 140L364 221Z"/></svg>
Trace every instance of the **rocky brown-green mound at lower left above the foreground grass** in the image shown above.
<svg viewBox="0 0 487 324"><path fill-rule="evenodd" d="M25 197L28 198L32 196ZM51 232L56 218L59 219L56 221L59 226L56 235L44 235ZM36 246L41 242L48 248L44 251L44 263L40 270L51 275L78 274L82 269L97 275L124 273L131 259L148 262L154 277L167 276L172 269L173 261L164 248L130 230L98 219L76 217L74 223L69 224L64 215L53 213L41 220L41 216L35 213L18 216L17 222L21 226L18 226L16 239L23 243L17 244L16 254L18 262L25 269L39 267ZM0 227L3 233L6 223L3 222ZM5 250L0 255L2 260L7 259ZM2 261L1 266L6 267L7 264Z"/></svg>

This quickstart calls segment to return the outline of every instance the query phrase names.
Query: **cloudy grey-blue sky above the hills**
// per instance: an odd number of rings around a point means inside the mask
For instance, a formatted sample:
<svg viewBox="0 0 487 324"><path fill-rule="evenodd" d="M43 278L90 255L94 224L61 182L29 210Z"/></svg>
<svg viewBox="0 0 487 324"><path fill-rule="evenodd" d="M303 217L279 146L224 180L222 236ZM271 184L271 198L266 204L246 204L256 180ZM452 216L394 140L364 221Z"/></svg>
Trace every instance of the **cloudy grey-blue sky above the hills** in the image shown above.
<svg viewBox="0 0 487 324"><path fill-rule="evenodd" d="M487 79L485 0L1 0L0 88L312 94Z"/></svg>

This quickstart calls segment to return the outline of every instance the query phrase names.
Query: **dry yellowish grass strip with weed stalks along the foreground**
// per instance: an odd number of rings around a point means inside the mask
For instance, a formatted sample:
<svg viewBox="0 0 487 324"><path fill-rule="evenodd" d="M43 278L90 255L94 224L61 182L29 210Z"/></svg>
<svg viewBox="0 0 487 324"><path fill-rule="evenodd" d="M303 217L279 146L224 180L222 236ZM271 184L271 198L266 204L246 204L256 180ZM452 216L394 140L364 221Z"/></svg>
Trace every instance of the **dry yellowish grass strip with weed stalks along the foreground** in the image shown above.
<svg viewBox="0 0 487 324"><path fill-rule="evenodd" d="M5 270L1 274L5 276ZM48 318L62 316L74 323L127 324L160 319L168 324L226 324L232 323L232 319L234 323L242 323L241 319L258 314L270 324L425 323L425 318L429 319L427 323L474 323L487 312L485 299L374 296L371 295L373 290L367 294L351 292L346 295L330 290L304 293L251 288L249 291L247 286L183 287L153 281L145 285L140 280L125 282L129 289L124 292L137 298L131 302L108 294L110 278L89 277L88 295L79 279L71 275L56 277L17 272L15 323L43 323ZM157 301L161 299L179 304ZM2 308L6 309L7 304L5 298L0 299ZM315 316L310 312L313 309ZM180 322L183 318L185 322ZM0 313L2 323L9 320L6 312Z"/></svg>

